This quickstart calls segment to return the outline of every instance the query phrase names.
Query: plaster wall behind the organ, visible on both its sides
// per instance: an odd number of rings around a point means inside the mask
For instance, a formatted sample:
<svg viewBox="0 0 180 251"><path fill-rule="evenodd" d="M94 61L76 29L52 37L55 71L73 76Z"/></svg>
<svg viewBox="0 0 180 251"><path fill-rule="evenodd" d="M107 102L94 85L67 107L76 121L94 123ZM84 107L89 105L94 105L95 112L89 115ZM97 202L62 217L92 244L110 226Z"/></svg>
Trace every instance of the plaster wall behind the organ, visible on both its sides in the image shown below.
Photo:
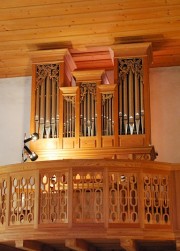
<svg viewBox="0 0 180 251"><path fill-rule="evenodd" d="M150 94L157 161L180 163L180 67L150 69ZM31 77L0 79L0 165L21 162L30 96Z"/></svg>

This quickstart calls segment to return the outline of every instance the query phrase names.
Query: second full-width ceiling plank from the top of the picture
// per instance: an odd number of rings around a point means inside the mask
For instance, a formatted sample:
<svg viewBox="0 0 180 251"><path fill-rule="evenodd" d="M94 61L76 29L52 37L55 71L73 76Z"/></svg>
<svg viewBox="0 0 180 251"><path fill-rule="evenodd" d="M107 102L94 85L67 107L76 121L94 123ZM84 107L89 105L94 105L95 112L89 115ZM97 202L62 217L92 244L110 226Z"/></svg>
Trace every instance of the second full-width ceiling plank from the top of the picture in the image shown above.
<svg viewBox="0 0 180 251"><path fill-rule="evenodd" d="M78 25L85 23L108 23L113 21L124 22L127 20L137 21L150 21L157 19L157 21L161 21L161 19L166 18L167 21L170 21L171 18L179 17L179 9L177 7L173 7L172 10L167 11L167 7L158 8L157 12L154 11L154 8L149 9L148 13L140 12L138 9L136 10L120 10L114 9L111 11L111 15L109 15L109 11L103 11L100 13L82 13L79 14L65 14L60 15L52 14L51 17L24 17L24 18L16 18L13 20L1 20L0 21L0 31L10 31L10 30L21 30L24 27L26 29L34 29L34 28L48 28L52 26L65 26L65 25ZM23 27L22 27L23 23Z"/></svg>

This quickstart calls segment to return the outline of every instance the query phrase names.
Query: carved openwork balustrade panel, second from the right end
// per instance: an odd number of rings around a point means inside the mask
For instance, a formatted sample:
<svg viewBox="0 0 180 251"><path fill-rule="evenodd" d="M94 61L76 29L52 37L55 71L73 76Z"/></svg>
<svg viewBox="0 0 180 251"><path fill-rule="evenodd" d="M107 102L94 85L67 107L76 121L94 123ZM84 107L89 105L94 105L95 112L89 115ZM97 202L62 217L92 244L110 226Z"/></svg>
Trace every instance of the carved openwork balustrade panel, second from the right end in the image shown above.
<svg viewBox="0 0 180 251"><path fill-rule="evenodd" d="M137 175L109 172L109 222L138 223Z"/></svg>

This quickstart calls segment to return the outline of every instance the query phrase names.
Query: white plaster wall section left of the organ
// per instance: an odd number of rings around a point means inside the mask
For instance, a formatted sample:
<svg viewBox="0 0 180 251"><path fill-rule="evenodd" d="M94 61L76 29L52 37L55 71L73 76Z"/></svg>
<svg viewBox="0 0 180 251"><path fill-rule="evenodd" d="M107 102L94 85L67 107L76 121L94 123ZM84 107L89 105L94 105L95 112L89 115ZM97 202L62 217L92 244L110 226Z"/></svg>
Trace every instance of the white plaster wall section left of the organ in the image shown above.
<svg viewBox="0 0 180 251"><path fill-rule="evenodd" d="M31 77L0 79L0 165L22 161L30 127Z"/></svg>

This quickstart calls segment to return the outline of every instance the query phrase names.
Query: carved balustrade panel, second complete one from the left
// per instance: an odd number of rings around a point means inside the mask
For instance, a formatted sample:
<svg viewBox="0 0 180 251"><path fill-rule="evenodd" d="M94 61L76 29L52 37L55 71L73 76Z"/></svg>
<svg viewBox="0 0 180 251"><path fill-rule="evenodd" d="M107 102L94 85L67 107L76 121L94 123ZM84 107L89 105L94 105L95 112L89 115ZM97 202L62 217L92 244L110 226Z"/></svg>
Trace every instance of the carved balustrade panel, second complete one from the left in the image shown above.
<svg viewBox="0 0 180 251"><path fill-rule="evenodd" d="M40 223L66 223L68 173L44 172L40 174L40 180Z"/></svg>

